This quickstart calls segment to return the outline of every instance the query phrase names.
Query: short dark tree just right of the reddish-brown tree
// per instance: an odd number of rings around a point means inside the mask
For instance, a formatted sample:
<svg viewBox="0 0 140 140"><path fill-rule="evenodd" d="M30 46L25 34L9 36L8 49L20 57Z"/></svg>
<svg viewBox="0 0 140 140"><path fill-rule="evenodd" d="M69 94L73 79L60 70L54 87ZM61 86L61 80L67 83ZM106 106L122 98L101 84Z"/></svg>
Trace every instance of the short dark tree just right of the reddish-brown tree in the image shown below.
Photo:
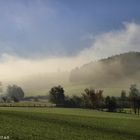
<svg viewBox="0 0 140 140"><path fill-rule="evenodd" d="M115 112L117 109L117 102L115 97L107 96L105 98L106 108L109 112Z"/></svg>

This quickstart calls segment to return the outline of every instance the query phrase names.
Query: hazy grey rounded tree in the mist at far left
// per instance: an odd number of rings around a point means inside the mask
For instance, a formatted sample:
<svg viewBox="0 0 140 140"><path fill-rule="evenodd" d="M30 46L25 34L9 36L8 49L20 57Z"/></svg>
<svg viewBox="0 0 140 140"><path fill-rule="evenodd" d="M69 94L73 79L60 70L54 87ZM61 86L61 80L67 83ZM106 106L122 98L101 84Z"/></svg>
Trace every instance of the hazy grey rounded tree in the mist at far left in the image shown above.
<svg viewBox="0 0 140 140"><path fill-rule="evenodd" d="M24 91L17 85L7 87L7 97L11 98L14 102L19 102L24 98Z"/></svg>

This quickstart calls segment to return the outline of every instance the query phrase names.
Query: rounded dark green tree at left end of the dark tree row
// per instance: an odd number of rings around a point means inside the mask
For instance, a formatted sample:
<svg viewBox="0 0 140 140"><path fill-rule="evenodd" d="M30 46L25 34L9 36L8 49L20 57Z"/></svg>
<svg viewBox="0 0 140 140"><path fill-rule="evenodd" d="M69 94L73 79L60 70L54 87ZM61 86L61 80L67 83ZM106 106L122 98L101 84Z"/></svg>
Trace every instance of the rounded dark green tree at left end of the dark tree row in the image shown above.
<svg viewBox="0 0 140 140"><path fill-rule="evenodd" d="M57 106L63 106L65 102L65 95L63 87L55 86L49 91L49 99Z"/></svg>

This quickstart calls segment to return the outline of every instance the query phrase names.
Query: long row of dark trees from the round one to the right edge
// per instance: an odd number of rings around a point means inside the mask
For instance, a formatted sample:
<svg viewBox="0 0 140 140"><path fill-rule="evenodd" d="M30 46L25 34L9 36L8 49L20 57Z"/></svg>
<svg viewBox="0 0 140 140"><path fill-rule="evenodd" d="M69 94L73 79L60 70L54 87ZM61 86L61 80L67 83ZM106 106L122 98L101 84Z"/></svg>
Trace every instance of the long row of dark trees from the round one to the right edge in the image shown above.
<svg viewBox="0 0 140 140"><path fill-rule="evenodd" d="M95 90L86 88L81 96L66 96L62 86L52 87L49 91L49 100L58 107L71 108L90 108L104 110L109 112L120 111L124 108L132 107L135 114L139 114L140 110L140 91L136 85L130 86L127 96L125 90L122 90L120 97L103 96L103 90Z"/></svg>

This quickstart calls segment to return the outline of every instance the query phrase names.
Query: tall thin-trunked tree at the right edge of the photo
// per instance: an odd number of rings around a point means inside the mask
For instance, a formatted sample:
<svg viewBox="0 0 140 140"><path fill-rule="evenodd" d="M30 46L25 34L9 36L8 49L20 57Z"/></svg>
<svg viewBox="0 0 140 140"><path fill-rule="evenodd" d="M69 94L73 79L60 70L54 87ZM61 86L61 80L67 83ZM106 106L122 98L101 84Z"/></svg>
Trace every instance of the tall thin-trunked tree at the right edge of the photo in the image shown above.
<svg viewBox="0 0 140 140"><path fill-rule="evenodd" d="M130 86L130 93L129 93L130 101L132 102L132 107L134 109L135 114L139 114L140 109L140 92L137 88L137 85Z"/></svg>

